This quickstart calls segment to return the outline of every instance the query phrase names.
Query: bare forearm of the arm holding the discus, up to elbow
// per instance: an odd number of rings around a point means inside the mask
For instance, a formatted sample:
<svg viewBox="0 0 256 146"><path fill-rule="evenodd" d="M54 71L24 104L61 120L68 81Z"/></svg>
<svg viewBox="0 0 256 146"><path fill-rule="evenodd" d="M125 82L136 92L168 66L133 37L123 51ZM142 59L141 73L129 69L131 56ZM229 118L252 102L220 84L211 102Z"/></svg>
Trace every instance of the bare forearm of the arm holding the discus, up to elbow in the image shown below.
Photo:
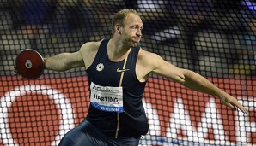
<svg viewBox="0 0 256 146"><path fill-rule="evenodd" d="M68 55L68 53L62 53L59 55L54 55L49 58L44 58L45 68L47 70L58 71L58 72L68 70L68 66L65 63L66 55Z"/></svg>

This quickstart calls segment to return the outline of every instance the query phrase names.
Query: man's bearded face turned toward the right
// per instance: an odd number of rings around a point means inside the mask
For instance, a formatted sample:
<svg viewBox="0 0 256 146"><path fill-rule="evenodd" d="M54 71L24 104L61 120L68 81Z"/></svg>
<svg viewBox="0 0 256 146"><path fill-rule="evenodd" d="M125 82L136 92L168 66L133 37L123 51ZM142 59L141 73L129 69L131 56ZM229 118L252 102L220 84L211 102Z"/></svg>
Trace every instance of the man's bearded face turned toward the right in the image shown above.
<svg viewBox="0 0 256 146"><path fill-rule="evenodd" d="M143 30L143 21L138 15L128 14L125 19L124 27L121 30L122 38L125 44L131 47L137 47Z"/></svg>

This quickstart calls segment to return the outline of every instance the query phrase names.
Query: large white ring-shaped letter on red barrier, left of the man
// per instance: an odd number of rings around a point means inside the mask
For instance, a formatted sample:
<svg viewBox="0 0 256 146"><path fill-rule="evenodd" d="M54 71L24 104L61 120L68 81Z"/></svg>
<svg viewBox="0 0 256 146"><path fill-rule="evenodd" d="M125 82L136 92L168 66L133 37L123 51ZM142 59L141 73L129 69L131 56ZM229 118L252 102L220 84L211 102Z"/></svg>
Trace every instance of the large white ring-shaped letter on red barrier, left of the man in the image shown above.
<svg viewBox="0 0 256 146"><path fill-rule="evenodd" d="M12 102L15 102L17 96L26 95L27 91L37 91L42 95L51 97L60 110L62 115L62 124L59 126L59 135L55 137L57 140L52 141L51 143L51 145L58 145L60 139L64 137L64 134L67 131L70 131L71 128L75 127L75 121L73 119L71 103L68 98L64 97L64 95L59 93L57 90L52 90L46 85L18 86L13 91L6 92L4 96L0 97L0 137L2 137L3 145L18 146L18 144L15 143L7 124L8 108L11 106Z"/></svg>

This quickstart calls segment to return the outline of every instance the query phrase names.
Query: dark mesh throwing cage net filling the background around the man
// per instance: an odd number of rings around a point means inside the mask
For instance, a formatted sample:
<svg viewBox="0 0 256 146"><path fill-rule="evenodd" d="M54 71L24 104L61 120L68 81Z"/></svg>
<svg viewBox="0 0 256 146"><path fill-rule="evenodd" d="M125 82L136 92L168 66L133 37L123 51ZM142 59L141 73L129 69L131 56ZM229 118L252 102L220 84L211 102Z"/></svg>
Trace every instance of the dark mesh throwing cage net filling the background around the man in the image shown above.
<svg viewBox="0 0 256 146"><path fill-rule="evenodd" d="M48 57L110 38L112 16L124 8L141 15L144 50L200 73L249 111L150 76L143 96L149 132L140 145L256 144L255 1L2 0L0 145L58 145L88 112L84 67L27 80L14 73L16 55L29 48Z"/></svg>

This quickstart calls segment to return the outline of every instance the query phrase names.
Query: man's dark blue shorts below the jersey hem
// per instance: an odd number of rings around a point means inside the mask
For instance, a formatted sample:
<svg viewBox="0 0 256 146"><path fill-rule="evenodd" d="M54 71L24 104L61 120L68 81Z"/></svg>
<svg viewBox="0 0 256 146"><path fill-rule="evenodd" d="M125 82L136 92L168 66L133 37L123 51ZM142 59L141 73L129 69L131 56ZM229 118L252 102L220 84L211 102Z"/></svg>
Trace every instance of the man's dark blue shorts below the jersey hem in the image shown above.
<svg viewBox="0 0 256 146"><path fill-rule="evenodd" d="M139 139L140 137L107 137L88 120L83 120L62 138L58 146L137 146Z"/></svg>

